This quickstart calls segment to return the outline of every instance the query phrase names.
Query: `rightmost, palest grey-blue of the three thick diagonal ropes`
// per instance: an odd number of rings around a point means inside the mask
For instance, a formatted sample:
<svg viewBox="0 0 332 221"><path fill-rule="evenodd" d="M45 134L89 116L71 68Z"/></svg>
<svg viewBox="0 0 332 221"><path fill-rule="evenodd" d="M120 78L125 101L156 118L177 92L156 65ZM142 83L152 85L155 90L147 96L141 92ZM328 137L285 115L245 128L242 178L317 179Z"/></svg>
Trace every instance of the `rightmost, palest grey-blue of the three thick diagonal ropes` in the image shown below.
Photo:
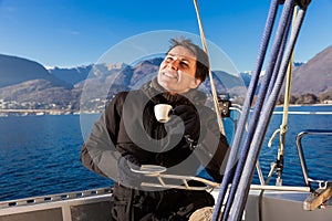
<svg viewBox="0 0 332 221"><path fill-rule="evenodd" d="M293 2L293 1L291 1ZM282 60L281 69L279 71L276 86L273 87L270 97L267 101L267 104L263 107L263 114L261 115L258 126L257 126L257 133L253 136L251 147L248 154L248 159L243 169L243 172L241 175L240 183L239 183L239 190L237 191L235 202L232 204L232 213L230 214L230 220L240 220L241 215L245 210L245 206L248 199L250 182L252 179L253 168L255 168L255 161L258 158L260 147L267 130L267 127L269 125L269 122L271 119L276 102L278 99L280 88L282 86L286 72L288 69L289 61L291 59L303 19L305 15L305 10L301 9L298 13L298 18L294 25L294 32L291 34L290 42L286 50L284 59Z"/></svg>

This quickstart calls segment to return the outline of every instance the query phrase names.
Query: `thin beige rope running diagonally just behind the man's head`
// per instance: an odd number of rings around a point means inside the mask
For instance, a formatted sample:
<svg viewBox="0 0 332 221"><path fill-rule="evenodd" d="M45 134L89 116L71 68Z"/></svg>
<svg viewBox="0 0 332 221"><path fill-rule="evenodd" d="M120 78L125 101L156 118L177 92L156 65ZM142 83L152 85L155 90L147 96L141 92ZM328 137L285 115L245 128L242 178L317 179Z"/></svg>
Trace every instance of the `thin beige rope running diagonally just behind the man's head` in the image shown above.
<svg viewBox="0 0 332 221"><path fill-rule="evenodd" d="M197 0L194 0L194 4L195 4L195 9L196 9L196 17L197 17L197 20L198 20L198 27L199 27L199 33L200 33L201 44L204 46L204 51L208 54L208 46L207 46L207 43L206 43L206 38L205 38L203 24L201 24L201 19L200 19L200 15L199 15L199 8L198 8ZM210 66L209 59L208 59L208 62L209 62L209 66ZM209 69L209 78L210 78L212 98L214 98L215 109L216 109L216 114L217 114L219 130L220 130L220 133L222 135L226 135L225 128L224 128L222 118L221 118L221 112L220 112L220 108L219 108L219 103L218 103L218 97L217 97L217 91L216 91L216 86L215 86L215 82L214 82L214 76L212 76L211 67Z"/></svg>

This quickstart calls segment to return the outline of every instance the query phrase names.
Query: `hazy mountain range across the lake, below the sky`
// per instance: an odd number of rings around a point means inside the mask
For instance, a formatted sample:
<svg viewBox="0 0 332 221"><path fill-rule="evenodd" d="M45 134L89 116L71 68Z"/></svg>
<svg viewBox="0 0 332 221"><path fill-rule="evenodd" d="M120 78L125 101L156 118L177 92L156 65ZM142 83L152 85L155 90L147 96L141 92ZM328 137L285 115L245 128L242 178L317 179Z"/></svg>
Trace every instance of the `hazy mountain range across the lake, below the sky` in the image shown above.
<svg viewBox="0 0 332 221"><path fill-rule="evenodd" d="M158 71L162 57L142 61L135 65L91 64L72 69L45 69L38 62L0 54L0 107L8 108L63 108L79 109L84 96L95 108L95 103L110 98L118 91L137 88ZM212 72L218 94L243 96L250 82L250 72L238 76L216 70ZM201 86L210 88L210 82ZM293 71L293 95L332 94L332 46L318 53ZM82 99L81 99L82 101ZM21 105L21 106L20 106ZM22 106L24 105L24 106ZM28 106L27 106L28 105ZM46 106L49 105L49 106ZM101 104L97 104L101 105Z"/></svg>

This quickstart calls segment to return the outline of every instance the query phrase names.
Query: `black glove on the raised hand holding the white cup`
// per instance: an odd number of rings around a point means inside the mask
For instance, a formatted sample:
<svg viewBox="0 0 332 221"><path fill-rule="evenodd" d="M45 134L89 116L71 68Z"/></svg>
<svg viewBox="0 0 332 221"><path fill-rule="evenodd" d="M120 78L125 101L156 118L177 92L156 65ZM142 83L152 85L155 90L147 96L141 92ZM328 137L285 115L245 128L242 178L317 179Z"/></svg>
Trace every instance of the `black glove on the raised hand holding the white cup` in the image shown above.
<svg viewBox="0 0 332 221"><path fill-rule="evenodd" d="M172 115L176 115L181 118L185 124L185 138L187 141L191 140L197 143L200 134L200 120L197 110L193 106L188 105L179 105L173 109L170 113L170 120Z"/></svg>

